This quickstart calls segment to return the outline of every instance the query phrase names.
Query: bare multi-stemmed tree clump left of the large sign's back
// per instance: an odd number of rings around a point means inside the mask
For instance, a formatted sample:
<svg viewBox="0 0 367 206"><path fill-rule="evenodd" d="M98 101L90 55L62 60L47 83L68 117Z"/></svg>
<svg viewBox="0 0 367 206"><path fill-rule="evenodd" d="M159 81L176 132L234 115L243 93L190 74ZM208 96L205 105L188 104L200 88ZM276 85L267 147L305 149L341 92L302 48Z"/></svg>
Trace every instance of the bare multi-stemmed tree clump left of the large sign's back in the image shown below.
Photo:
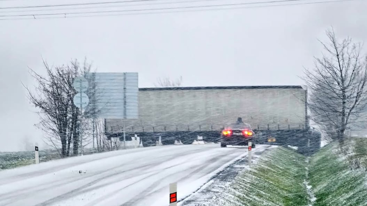
<svg viewBox="0 0 367 206"><path fill-rule="evenodd" d="M38 85L32 92L28 91L30 103L39 111L40 123L36 124L46 136L44 142L56 148L61 157L67 157L70 153L70 145L73 142L73 153L78 154L79 148L79 124L80 112L73 104L73 98L77 93L73 89L73 81L80 74L85 75L90 65L84 61L84 67L80 68L77 60L70 65L50 67L43 62L46 76L37 74L30 69L30 74L36 79ZM84 73L83 73L84 72Z"/></svg>

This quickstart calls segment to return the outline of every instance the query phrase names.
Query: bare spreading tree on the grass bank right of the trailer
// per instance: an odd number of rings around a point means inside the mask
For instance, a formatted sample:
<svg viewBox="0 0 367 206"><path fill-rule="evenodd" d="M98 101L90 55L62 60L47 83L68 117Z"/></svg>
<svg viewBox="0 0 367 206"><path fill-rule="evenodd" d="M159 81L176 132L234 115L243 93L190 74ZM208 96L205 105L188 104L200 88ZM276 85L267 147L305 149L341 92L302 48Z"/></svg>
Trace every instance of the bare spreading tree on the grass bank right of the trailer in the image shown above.
<svg viewBox="0 0 367 206"><path fill-rule="evenodd" d="M320 41L326 54L315 58L315 69L306 69L304 80L311 119L342 145L346 129L365 126L367 57L351 38L338 42L333 29L326 34L329 42Z"/></svg>

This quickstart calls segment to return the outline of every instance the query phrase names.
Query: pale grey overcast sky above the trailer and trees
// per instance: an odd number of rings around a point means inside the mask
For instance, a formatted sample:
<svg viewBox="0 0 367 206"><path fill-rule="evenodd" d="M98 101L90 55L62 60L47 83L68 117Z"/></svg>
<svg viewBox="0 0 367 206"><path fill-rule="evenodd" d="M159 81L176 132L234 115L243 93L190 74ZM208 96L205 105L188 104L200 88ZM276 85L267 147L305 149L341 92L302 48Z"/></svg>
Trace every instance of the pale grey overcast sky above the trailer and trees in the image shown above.
<svg viewBox="0 0 367 206"><path fill-rule="evenodd" d="M70 2L76 1L8 0L0 1L0 7ZM201 4L233 2L246 1ZM43 134L33 126L38 118L21 82L34 84L28 67L42 73L42 58L50 65L61 65L71 58L87 57L100 72L136 71L139 87L153 87L158 77L179 76L183 86L301 85L298 76L303 66L312 67L314 55L321 54L317 39L325 39L328 27L333 26L339 38L349 35L356 41L366 41L366 8L367 1L356 0L0 21L0 151L22 150L26 137L41 143ZM0 9L0 15L25 14L3 11Z"/></svg>

